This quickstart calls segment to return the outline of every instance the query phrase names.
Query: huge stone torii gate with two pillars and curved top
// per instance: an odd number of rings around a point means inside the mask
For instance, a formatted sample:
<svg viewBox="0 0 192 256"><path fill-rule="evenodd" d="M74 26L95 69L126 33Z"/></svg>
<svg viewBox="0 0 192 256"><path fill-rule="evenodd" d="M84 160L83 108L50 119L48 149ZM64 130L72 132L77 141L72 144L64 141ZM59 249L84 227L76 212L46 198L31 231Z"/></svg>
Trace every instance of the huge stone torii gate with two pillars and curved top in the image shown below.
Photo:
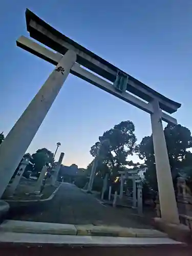
<svg viewBox="0 0 192 256"><path fill-rule="evenodd" d="M56 68L0 146L0 197L3 195L20 159L22 159L47 115L63 82L71 73L151 115L161 221L179 224L178 209L162 126L162 120L174 124L177 124L177 120L162 112L162 110L172 114L180 108L181 104L166 98L134 77L120 71L108 61L52 28L28 9L26 10L26 23L31 37L52 48L57 53L38 45L24 36L19 37L16 41L17 46L49 61L56 65ZM95 74L82 68L82 66ZM113 86L119 71L128 78L126 90L124 91L116 90ZM108 81L98 77L96 74ZM129 92L140 97L140 99Z"/></svg>

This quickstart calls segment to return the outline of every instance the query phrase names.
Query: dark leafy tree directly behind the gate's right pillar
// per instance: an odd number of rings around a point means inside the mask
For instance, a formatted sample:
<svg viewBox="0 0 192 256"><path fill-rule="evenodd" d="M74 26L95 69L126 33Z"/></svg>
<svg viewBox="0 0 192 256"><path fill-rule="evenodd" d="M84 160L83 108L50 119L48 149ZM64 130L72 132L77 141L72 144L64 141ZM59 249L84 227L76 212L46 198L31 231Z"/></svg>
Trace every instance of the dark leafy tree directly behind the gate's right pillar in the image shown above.
<svg viewBox="0 0 192 256"><path fill-rule="evenodd" d="M192 147L192 137L190 131L180 124L167 124L164 129L164 135L170 169L175 183L178 173L182 171L185 172L186 168L192 164L192 153L189 151L189 148ZM142 139L141 143L136 147L136 152L140 159L145 160L145 164L147 165L145 182L157 191L157 176L152 135Z"/></svg>

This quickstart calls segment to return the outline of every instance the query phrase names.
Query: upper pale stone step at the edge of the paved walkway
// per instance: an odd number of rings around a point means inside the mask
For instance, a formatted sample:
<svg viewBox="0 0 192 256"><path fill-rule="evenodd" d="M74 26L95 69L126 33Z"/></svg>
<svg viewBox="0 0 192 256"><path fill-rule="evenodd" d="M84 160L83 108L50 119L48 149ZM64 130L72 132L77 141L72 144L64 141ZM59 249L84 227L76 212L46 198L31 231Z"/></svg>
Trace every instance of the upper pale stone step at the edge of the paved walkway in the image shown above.
<svg viewBox="0 0 192 256"><path fill-rule="evenodd" d="M155 229L125 228L120 226L73 225L31 221L6 220L0 225L2 232L62 234L77 237L167 238L167 234Z"/></svg>

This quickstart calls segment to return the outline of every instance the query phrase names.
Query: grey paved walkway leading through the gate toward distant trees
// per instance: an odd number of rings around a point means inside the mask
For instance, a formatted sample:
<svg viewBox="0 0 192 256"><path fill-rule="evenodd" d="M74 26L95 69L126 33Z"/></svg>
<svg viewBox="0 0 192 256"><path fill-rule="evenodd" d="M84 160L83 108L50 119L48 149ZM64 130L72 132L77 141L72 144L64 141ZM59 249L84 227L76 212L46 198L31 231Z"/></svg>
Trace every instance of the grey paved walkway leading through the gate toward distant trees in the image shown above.
<svg viewBox="0 0 192 256"><path fill-rule="evenodd" d="M35 209L34 209L35 207ZM55 197L43 207L31 206L11 217L13 220L68 223L118 225L133 228L149 228L127 218L122 211L101 202L73 184L62 183Z"/></svg>

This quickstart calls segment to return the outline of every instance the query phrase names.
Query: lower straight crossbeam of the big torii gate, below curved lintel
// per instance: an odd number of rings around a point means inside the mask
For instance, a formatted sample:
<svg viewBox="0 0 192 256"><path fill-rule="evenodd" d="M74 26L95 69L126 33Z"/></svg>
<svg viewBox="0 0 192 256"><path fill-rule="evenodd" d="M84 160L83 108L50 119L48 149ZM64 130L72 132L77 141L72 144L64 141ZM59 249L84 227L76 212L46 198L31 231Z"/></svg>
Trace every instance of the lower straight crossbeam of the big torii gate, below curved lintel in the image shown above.
<svg viewBox="0 0 192 256"><path fill-rule="evenodd" d="M37 44L36 42L32 41L31 39L20 36L16 40L16 44L18 47L25 49L28 52L31 52L32 54L49 61L53 65L57 65L59 60L62 58L62 55L59 53L54 53L50 51L49 49L42 47L41 45ZM86 80L95 86L99 87L100 89L109 92L113 94L114 96L136 106L137 108L152 114L153 108L151 103L146 103L141 99L138 99L137 97L131 95L127 92L118 92L113 87L113 84L111 82L105 81L104 79L98 77L97 75L89 72L86 69L83 69L78 63L75 63L75 65L71 69L71 73L73 75L76 75L77 77L82 78L83 80ZM168 123L174 123L177 124L177 120L173 118L172 116L169 116L162 112L162 120Z"/></svg>

